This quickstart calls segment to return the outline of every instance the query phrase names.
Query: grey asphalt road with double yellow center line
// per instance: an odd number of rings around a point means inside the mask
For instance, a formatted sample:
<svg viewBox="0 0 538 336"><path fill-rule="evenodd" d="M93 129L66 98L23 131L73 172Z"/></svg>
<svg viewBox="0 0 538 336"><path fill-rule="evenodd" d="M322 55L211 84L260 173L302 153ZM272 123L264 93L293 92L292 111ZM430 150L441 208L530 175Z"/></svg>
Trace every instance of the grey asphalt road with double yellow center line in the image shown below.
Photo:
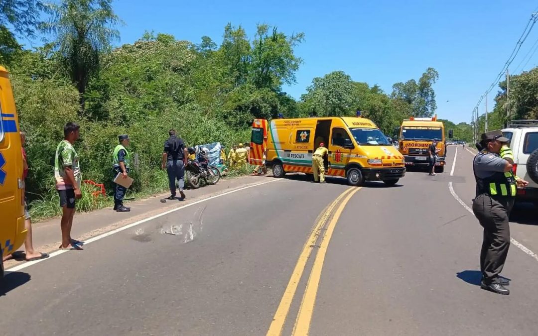
<svg viewBox="0 0 538 336"><path fill-rule="evenodd" d="M267 183L19 269L0 296L0 330L535 335L538 260L512 245L511 295L478 286L482 230L449 190L471 203L472 154L458 148L450 176L455 150L444 174L411 172L392 188L259 177ZM516 211L513 238L538 251L533 210Z"/></svg>

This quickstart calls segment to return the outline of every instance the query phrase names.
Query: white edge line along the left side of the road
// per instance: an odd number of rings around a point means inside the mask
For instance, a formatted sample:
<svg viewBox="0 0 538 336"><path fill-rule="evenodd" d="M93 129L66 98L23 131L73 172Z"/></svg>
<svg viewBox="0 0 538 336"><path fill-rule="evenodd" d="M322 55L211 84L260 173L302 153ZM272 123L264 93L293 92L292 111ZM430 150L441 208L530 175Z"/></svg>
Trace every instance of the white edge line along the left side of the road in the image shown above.
<svg viewBox="0 0 538 336"><path fill-rule="evenodd" d="M165 211L165 212L161 212L161 213L158 213L157 215L154 215L154 216L151 216L151 217L148 217L148 218L144 218L144 219L139 220L139 221L135 221L134 223L127 224L127 225L122 226L122 227L118 227L118 228L116 228L115 230L112 230L112 231L109 231L109 232L105 232L105 233L100 234L100 235L96 235L95 237L90 238L90 239L84 241L84 246L90 244L91 242L94 242L94 241L103 239L103 238L105 238L105 237L108 237L109 235L112 235L112 234L115 234L115 233L118 233L118 232L127 230L128 228L131 228L131 227L133 227L133 226L137 226L137 225L146 223L146 221L150 221L150 220L153 220L153 219L155 219L155 218L159 218L159 217L168 215L169 213L172 213L172 212L175 212L175 211L178 211L178 210L181 210L181 209L188 208L189 206L193 206L193 205L196 205L196 204L200 204L200 203L202 203L202 202L207 202L207 201L210 201L211 199L215 199L215 198L218 198L218 197L222 197L222 196L230 195L230 194L233 194L234 192L238 192L238 191L241 191L241 190L245 190L245 189L249 189L249 188L253 188L253 187L258 187L258 185L267 184L267 183L272 183L272 182L277 182L277 181L280 181L280 180L282 180L282 179L281 179L281 178L276 178L276 179L271 180L271 181L266 181L266 182L261 182L261 183L252 184L252 185L247 185L246 187L243 187L243 188L234 189L234 190L230 190L230 191L227 191L227 192L223 192L222 194L218 194L218 195L215 195L215 196L211 196L211 197L207 197L207 198L199 199L199 200L196 201L196 202L182 205L182 206L180 206L179 208L174 208L174 209L171 209L171 210L168 210L168 211ZM60 254L62 254L62 253L66 253L66 252L69 252L69 250L59 250L59 251L55 251L55 252L49 254L49 257L46 258L46 259L39 259L39 260L34 260L34 261L24 262L24 263L19 264L19 265L17 265L17 266L13 266L13 267L11 267L11 268L6 269L5 272L6 272L6 274L8 274L9 272L15 272L15 271L18 271L18 270L21 270L21 269L25 269L26 267L30 267L30 266L32 266L32 265L34 265L34 264L37 264L38 262L49 260L49 259L51 259L51 258L54 258L55 256L58 256L58 255L60 255Z"/></svg>

